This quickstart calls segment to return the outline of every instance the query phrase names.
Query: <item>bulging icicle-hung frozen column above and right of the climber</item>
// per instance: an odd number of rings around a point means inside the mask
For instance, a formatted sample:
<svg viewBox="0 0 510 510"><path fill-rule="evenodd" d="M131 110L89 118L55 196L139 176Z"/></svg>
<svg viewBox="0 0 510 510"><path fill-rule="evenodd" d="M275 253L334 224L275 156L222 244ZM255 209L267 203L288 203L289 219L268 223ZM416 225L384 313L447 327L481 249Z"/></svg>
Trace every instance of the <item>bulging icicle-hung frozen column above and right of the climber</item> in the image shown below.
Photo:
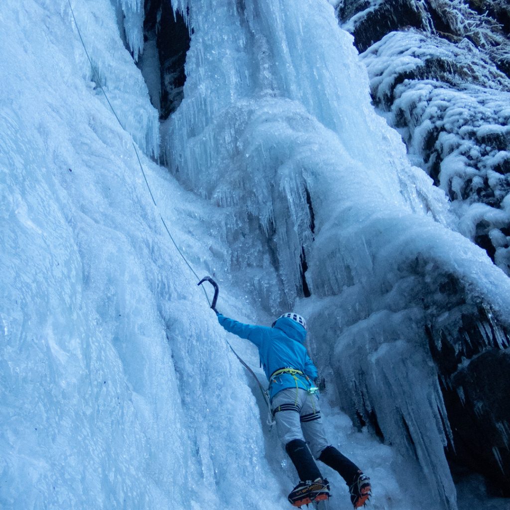
<svg viewBox="0 0 510 510"><path fill-rule="evenodd" d="M271 313L296 304L311 318L344 407L375 413L386 439L418 459L434 507L455 508L424 326L453 308L455 292L507 324L508 279L449 230L444 193L374 113L333 7L174 7L193 36L185 98L164 128L169 167L221 208L236 281ZM312 297L296 301L305 283Z"/></svg>

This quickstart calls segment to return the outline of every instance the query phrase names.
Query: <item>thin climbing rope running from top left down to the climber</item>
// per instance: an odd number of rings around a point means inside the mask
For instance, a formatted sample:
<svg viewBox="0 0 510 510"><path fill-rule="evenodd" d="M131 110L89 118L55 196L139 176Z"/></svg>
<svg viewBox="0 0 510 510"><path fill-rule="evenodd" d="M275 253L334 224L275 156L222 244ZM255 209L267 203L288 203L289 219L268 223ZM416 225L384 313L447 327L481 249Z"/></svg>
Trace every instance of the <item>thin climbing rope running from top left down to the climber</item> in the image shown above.
<svg viewBox="0 0 510 510"><path fill-rule="evenodd" d="M112 113L113 115L115 116L115 118L117 119L117 122L119 123L120 127L122 128L123 131L126 131L124 126L122 125L122 122L120 121L117 113L115 112L115 109L113 108L112 104L110 103L110 99L108 98L108 95L105 91L105 89L103 88L103 84L101 84L101 80L99 79L99 75L97 74L97 71L94 67L94 65L92 64L92 59L90 58L90 55L89 55L89 52L87 51L87 46L85 45L85 41L83 40L83 37L82 37L82 33L80 31L80 27L78 26L78 22L76 20L76 16L74 16L74 11L72 9L72 5L71 5L71 0L67 0L67 3L69 4L69 9L71 10L71 15L72 15L72 19L74 20L74 25L76 27L76 30L78 32L78 35L80 37L80 41L82 43L82 46L83 46L83 49L85 50L85 55L87 55L87 59L90 63L90 67L92 69L92 72L94 73L94 76L95 76L95 80L96 80L96 83L99 85L99 88L101 89L101 92L103 92L104 96L105 96L105 99L108 103L108 105L110 106L110 109L112 110ZM177 252L179 252L180 256L182 257L182 259L184 260L184 262L186 263L186 265L189 267L189 269L191 270L191 272L194 274L195 278L197 279L197 281L200 281L200 278L198 277L198 274L195 272L195 270L193 269L193 267L191 266L191 264L188 262L188 260L186 259L186 257L184 256L184 253L181 251L181 249L179 248L179 246L177 246L177 243L175 242L172 234L170 233L170 230L165 222L165 219L163 218L163 215L161 214L161 211L158 207L158 204L156 202L156 199L154 198L154 194L152 194L152 190L150 189L150 186L149 186L149 182L147 181L147 176L145 175L145 170L143 169L143 165L142 165L142 162L140 160L140 156L138 154L138 149L136 148L136 145L135 145L135 142L132 140L131 141L132 145L133 145L133 149L135 150L135 154L136 154L136 159L138 160L138 165L140 166L140 170L142 171L142 175L143 175L143 180L145 181L145 185L147 186L147 190L149 192L149 195L150 195L150 198L152 200L152 203L154 203L154 207L156 208L156 211L158 212L158 215L161 219L161 222L163 223L163 226L165 227L165 230L168 234L168 237L170 238L170 240L172 241L173 245L175 246L175 249L177 250ZM204 287L202 287L202 290L203 290L203 293L206 295L206 299L207 299L207 302L209 303L209 306L211 306L211 301L209 299L209 296L207 294L207 291ZM267 396L267 393L264 389L264 387L262 386L261 382L259 381L259 378L257 377L257 375L253 372L253 370L241 359L241 357L239 356L239 354L234 350L234 348L232 347L232 345L230 344L230 342L228 342L228 340L225 339L225 342L227 343L228 347L230 347L230 349L232 350L232 352L234 353L234 355L236 356L236 358L241 362L241 364L244 366L244 368L246 368L246 370L248 370L248 372L255 378L255 380L257 381L257 384L259 385L259 388L261 389L262 391L262 395L264 396L264 400L266 401L266 404L267 406L269 407L269 414L271 414L271 404L269 402L269 398ZM272 425L272 422L268 421L268 424L269 425Z"/></svg>

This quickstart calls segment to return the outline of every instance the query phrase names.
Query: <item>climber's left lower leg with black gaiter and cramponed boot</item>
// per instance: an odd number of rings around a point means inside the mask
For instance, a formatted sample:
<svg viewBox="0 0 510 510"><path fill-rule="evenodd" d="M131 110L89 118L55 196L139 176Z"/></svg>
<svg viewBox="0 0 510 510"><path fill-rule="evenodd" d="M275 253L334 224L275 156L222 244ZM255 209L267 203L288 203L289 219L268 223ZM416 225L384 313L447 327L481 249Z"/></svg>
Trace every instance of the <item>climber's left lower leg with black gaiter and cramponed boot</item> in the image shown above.
<svg viewBox="0 0 510 510"><path fill-rule="evenodd" d="M289 494L294 506L302 506L329 497L329 485L315 464L314 457L302 439L294 439L285 445L300 482Z"/></svg>

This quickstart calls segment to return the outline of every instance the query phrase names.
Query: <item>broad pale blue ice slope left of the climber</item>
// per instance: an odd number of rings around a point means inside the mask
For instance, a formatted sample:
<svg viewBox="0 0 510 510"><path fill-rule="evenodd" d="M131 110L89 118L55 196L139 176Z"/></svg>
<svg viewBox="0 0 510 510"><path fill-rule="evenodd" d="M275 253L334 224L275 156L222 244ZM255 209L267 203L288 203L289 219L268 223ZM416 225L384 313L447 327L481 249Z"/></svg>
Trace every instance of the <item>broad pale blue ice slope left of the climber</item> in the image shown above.
<svg viewBox="0 0 510 510"><path fill-rule="evenodd" d="M74 7L150 155L155 111L114 9ZM4 2L0 27L0 507L283 507L243 369L90 81L67 3ZM140 154L176 242L214 270L214 208Z"/></svg>

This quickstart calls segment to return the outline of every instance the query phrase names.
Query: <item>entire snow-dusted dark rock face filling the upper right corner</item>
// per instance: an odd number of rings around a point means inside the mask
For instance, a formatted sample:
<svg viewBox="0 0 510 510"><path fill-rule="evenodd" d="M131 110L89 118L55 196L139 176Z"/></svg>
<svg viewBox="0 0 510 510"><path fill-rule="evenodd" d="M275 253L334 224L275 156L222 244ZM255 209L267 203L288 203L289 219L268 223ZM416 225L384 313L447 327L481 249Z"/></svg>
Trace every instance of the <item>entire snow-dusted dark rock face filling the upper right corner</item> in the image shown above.
<svg viewBox="0 0 510 510"><path fill-rule="evenodd" d="M510 275L508 2L346 0L374 104L442 188L458 230Z"/></svg>

